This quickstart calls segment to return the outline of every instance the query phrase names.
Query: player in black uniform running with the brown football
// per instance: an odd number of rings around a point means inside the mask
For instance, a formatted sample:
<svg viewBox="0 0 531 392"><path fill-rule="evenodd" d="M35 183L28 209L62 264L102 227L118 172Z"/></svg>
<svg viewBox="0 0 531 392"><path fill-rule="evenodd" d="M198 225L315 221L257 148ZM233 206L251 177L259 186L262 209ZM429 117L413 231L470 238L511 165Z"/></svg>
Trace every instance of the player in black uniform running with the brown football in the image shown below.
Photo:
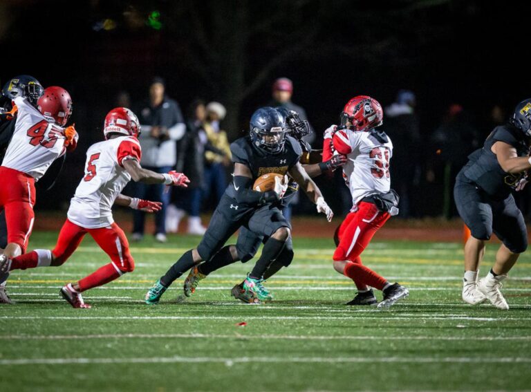
<svg viewBox="0 0 531 392"><path fill-rule="evenodd" d="M184 272L201 261L209 260L227 239L242 225L259 236L267 238L262 254L245 279L243 288L257 301L268 299L270 293L263 286L263 274L284 248L290 247L290 225L277 204L288 184L276 180L273 191L252 190L254 180L268 173L290 174L317 205L317 211L326 214L328 221L333 212L319 188L301 166L302 151L299 142L286 136L286 119L276 109L258 109L250 120L250 134L230 146L234 161L234 180L212 215L207 232L198 247L189 250L158 279L147 292L147 304L157 304L162 294Z"/></svg>

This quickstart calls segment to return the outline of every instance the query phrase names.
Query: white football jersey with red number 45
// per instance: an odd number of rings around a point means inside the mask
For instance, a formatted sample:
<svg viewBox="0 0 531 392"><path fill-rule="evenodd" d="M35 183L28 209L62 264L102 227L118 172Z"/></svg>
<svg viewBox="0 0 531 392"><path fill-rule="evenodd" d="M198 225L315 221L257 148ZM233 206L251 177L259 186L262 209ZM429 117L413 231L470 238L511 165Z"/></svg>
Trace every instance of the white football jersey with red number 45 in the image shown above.
<svg viewBox="0 0 531 392"><path fill-rule="evenodd" d="M17 105L17 122L2 166L29 174L39 180L54 160L65 152L64 129L44 118L23 97Z"/></svg>

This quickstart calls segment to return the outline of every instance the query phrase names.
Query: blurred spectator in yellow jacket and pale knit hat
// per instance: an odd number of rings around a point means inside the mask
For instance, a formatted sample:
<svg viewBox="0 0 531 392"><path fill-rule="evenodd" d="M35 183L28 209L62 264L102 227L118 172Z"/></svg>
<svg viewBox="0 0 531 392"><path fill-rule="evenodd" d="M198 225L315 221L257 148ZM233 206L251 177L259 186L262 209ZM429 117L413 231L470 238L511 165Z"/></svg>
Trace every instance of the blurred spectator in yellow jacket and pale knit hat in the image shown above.
<svg viewBox="0 0 531 392"><path fill-rule="evenodd" d="M205 151L205 200L214 197L214 204L218 205L227 187L227 167L231 166L230 144L227 133L220 128L220 122L225 118L227 110L219 102L207 104L207 119L203 129L207 133L208 143L216 150ZM220 155L223 154L223 155Z"/></svg>

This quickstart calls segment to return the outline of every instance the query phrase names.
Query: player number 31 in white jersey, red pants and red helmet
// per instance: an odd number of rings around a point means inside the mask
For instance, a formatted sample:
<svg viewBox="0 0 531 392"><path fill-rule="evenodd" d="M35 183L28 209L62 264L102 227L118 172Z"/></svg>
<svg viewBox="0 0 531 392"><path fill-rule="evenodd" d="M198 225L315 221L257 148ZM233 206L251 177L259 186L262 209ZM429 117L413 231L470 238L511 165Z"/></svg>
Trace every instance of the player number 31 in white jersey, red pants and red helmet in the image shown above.
<svg viewBox="0 0 531 392"><path fill-rule="evenodd" d="M353 207L336 232L333 255L337 272L353 279L358 293L348 305L377 303L373 288L382 290L379 308L387 308L409 292L391 284L362 264L360 254L375 232L391 215L398 214L398 195L391 189L389 161L393 143L383 131L383 111L378 101L366 95L353 97L342 112L341 127L329 127L324 135L323 160L334 154L346 156L343 177L352 194Z"/></svg>

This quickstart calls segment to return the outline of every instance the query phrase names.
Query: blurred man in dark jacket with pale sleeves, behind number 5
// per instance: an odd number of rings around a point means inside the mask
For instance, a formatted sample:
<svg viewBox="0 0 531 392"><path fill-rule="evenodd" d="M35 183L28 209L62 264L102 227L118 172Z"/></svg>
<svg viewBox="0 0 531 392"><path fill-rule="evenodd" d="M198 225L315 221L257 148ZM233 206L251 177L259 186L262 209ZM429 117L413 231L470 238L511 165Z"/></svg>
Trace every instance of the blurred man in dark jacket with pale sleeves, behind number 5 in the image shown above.
<svg viewBox="0 0 531 392"><path fill-rule="evenodd" d="M149 86L149 100L138 106L135 113L142 125L138 140L142 146L140 164L157 173L167 173L177 162L176 140L185 134L185 122L179 105L165 95L165 83L155 77ZM171 194L164 185L135 184L135 197L162 202L162 209L155 216L155 238L166 241L166 208ZM136 209L133 212L133 241L144 236L145 213Z"/></svg>

